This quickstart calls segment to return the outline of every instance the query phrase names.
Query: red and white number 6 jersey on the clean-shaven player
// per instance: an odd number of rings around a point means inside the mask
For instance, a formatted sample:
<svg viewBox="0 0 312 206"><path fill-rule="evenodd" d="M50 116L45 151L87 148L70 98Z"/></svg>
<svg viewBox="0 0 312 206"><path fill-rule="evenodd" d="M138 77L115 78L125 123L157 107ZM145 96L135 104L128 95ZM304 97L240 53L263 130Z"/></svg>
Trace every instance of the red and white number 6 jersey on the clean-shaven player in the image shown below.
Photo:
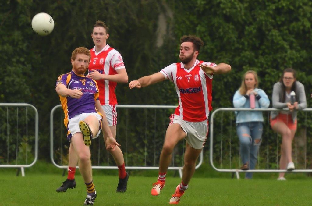
<svg viewBox="0 0 312 206"><path fill-rule="evenodd" d="M95 52L95 47L90 49L91 59L88 71L96 70L101 74L114 75L116 70L125 68L122 56L117 50L106 45L100 52ZM117 82L108 80L96 80L100 90L101 105L116 105L117 98L115 88Z"/></svg>

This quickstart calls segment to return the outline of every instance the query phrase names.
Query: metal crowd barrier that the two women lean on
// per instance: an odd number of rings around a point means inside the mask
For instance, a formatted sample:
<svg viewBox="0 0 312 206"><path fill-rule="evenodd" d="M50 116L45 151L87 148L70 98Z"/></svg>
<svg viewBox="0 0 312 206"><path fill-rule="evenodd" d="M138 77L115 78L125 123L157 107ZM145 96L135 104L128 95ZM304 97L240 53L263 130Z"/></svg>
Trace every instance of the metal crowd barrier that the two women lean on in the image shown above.
<svg viewBox="0 0 312 206"><path fill-rule="evenodd" d="M283 109L283 110L288 110L288 109ZM214 121L215 121L215 116L216 116L216 114L218 113L218 112L223 112L223 111L262 111L262 112L269 112L269 111L280 111L279 109L273 109L273 108L268 108L268 109L238 109L238 108L219 108L219 109L217 109L217 110L215 110L215 111L213 111L213 113L212 113L212 115L211 115L211 117L210 117L210 131L209 131L209 133L210 133L210 157L209 157L209 159L210 159L210 164L211 164L211 166L212 166L212 168L213 169L215 169L215 170L217 170L217 171L219 171L219 172L232 172L232 173L235 173L236 174L236 178L237 179L239 179L239 173L240 172L259 172L259 173L263 173L263 172L294 172L294 173L298 173L298 172L304 172L304 173L310 173L310 172L312 172L312 169L295 169L295 170L292 170L292 171L287 171L287 170L281 170L281 169L269 169L269 155L267 154L267 169L253 169L253 170L251 170L251 169L249 169L249 170L241 170L241 169L222 169L222 168L217 168L215 165L214 165L214 159L213 159L213 153L214 153L214 149L217 149L217 148L214 148L214 146L213 146L213 144L214 144L214 129L215 129L215 125L214 125ZM306 115L306 112L310 112L310 111L312 111L312 108L307 108L307 109L303 109L303 110L300 110L299 112L298 112L298 115L299 115L299 113L302 113L302 112L305 112L305 122L304 122L304 124L305 124L305 126L306 125L308 125L307 124L307 115ZM222 113L222 115L223 115L223 113ZM231 162L231 160L232 160L232 158L233 158L233 156L232 156L232 151L231 150L234 150L234 148L233 148L233 146L231 147L231 145L232 145L232 142L233 142L233 139L232 139L232 134L235 134L236 135L236 133L235 133L235 131L234 132L232 132L232 114L231 115L227 115L227 118L231 118L231 120L230 120L230 125L225 125L225 126L229 126L230 127L230 131L229 131L229 135L230 135L230 137L229 137L229 140L228 140L228 145L229 145L229 156L230 156L230 162L229 162L229 165L230 165L230 167L232 168L232 164L233 164L233 162ZM223 118L223 117L222 117ZM234 117L234 120L235 120L235 117ZM223 122L223 121L222 121ZM264 122L264 123L266 123L266 122ZM269 119L267 118L267 129L268 130L272 130L271 129L271 127L269 126ZM299 124L299 122L298 122L298 124ZM234 124L235 125L235 124ZM223 133L223 127L225 127L224 125L221 125L221 132L220 131L218 131L217 132L217 134L220 136L220 134L221 134L221 138L222 138L222 133ZM265 128L265 127L264 127ZM299 128L297 128L297 131L298 131L298 129ZM306 129L306 128L305 128ZM272 130L273 131L273 130ZM270 131L271 132L271 131ZM274 132L274 131L273 131ZM268 140L269 140L269 131L267 131L267 134L268 134ZM276 133L275 133L276 134ZM234 135L234 136L235 136ZM278 135L276 134L276 137L277 137ZM306 136L306 130L305 130L305 136ZM263 134L262 134L262 137L263 137ZM238 137L237 137L237 139L238 139ZM262 138L263 139L263 138ZM276 140L276 146L277 146L277 149L276 149L276 167L278 167L278 150L279 150L279 140L278 140L278 138L276 138L277 140ZM297 160L297 145L296 145L296 135L295 135L295 138L294 138L294 141L293 141L293 143L295 142L295 151L294 151L294 153L295 153L295 161ZM306 138L307 139L307 138ZM222 147L225 147L224 145L222 145L222 142L223 142L224 140L222 140L221 139L221 150L220 150L220 159L221 159L221 164L220 164L220 167L222 167L222 155L224 155L224 154L222 154ZM268 153L269 153L269 143L268 143L269 141L267 141L267 145L261 145L260 146L260 150L261 150L261 147L263 146L266 146L266 148L267 148L267 150L268 150ZM236 149L236 151L237 151L237 148L235 148ZM306 149L306 145L305 145L305 168L306 168L306 166L307 166L307 149ZM239 160L238 161L240 161L241 162L241 159L240 159L240 157L239 157ZM258 155L258 164L259 164L259 155ZM275 164L275 163L274 163ZM296 164L296 163L295 163Z"/></svg>

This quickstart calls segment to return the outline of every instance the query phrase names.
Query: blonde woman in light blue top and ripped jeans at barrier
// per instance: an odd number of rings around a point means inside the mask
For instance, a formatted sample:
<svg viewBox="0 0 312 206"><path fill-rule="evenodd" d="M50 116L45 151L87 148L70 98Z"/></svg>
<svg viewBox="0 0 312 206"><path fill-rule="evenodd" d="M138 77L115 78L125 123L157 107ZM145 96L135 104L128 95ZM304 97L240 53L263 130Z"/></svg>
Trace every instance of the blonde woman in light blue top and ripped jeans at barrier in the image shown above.
<svg viewBox="0 0 312 206"><path fill-rule="evenodd" d="M235 92L235 108L268 108L270 100L266 93L257 88L258 76L255 71L247 71L241 87ZM263 115L261 111L236 111L236 130L241 146L242 170L255 169L257 155L261 145ZM252 173L246 173L246 179Z"/></svg>

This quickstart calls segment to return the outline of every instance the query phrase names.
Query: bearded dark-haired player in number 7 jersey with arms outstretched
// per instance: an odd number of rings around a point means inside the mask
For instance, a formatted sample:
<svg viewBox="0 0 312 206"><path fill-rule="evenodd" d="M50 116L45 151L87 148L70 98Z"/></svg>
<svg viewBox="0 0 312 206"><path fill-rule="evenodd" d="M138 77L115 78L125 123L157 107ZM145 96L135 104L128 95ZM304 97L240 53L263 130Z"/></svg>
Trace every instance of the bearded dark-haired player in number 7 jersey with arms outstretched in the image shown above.
<svg viewBox="0 0 312 206"><path fill-rule="evenodd" d="M153 184L151 194L159 195L165 186L166 173L171 162L174 147L183 139L186 140L182 181L176 187L169 204L178 204L195 171L195 163L202 151L208 134L208 115L212 110L212 78L214 74L231 71L225 63L215 64L199 61L197 56L203 42L199 37L188 35L181 37L180 60L160 72L143 76L131 81L129 88L149 86L170 80L178 94L178 107L170 116L163 149L159 158L157 182Z"/></svg>

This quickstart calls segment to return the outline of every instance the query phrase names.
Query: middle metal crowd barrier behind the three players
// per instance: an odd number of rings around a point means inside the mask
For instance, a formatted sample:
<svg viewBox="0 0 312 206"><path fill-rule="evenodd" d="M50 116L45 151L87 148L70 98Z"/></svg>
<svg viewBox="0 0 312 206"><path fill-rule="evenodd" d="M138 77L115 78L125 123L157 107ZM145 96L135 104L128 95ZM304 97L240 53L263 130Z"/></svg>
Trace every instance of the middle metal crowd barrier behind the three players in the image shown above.
<svg viewBox="0 0 312 206"><path fill-rule="evenodd" d="M139 110L142 110L142 109L144 109L145 110L145 131L144 131L144 133L145 133L145 139L144 139L144 142L145 142L145 146L144 146L144 166L129 166L129 164L128 164L128 159L130 158L128 158L128 154L129 155L131 155L132 154L132 152L134 152L134 151L128 151L128 145L127 145L127 142L128 142L128 139L126 139L126 143L125 142L119 142L119 144L121 144L121 146L123 146L124 144L126 144L126 148L125 148L125 150L124 149L122 149L123 150L123 152L124 152L124 160L125 160L125 168L126 169L158 169L159 167L158 166L156 166L156 159L157 159L157 155L155 154L156 152L155 152L155 150L156 150L156 148L155 148L155 146L154 146L154 157L147 157L147 153L148 153L148 151L147 151L147 142L150 140L150 139L152 139L152 138L154 138L154 144L155 144L155 136L156 136L156 133L158 133L159 131L156 129L156 122L157 122L157 120L156 120L156 114L158 114L157 112L156 112L156 110L158 110L158 109L175 109L177 106L174 106L174 105L168 105L168 106L164 106L164 105L117 105L117 108L118 108L118 110L117 110L117 112L120 110L120 109L125 109L126 110L126 116L120 116L120 114L118 114L118 119L124 119L124 118L126 118L126 123L125 123L125 125L126 125L126 127L125 127L125 132L126 132L126 138L128 138L128 136L129 136L129 134L128 134L128 109L139 109ZM54 159L54 156L55 156L55 148L54 148L54 139L55 139L55 137L54 137L54 112L55 112L55 110L56 109L60 109L61 108L61 105L56 105L52 110L51 110L51 114L50 114L50 148L51 148L51 152L50 152L50 157L51 157L51 161L52 161L52 163L56 166L56 167L58 167L58 168L62 168L62 169L67 169L67 165L59 165L59 164L57 164L56 163L56 161L55 161L55 159ZM147 129L147 124L148 124L148 120L147 120L147 109L154 109L155 111L154 111L154 119L153 119L153 121L154 121L154 123L155 123L155 125L154 125L154 128L153 128L153 131L150 131L150 130L148 130ZM63 111L61 111L62 113L63 113ZM142 114L144 114L143 112L142 112ZM151 113L150 113L151 114ZM143 115L142 115L143 116ZM64 118L64 117L62 117L62 118ZM63 124L63 119L61 118L61 127L64 127L64 130L65 130L65 126L64 126L64 124ZM166 119L169 119L169 115L168 116L166 116L165 117ZM131 121L135 121L135 120L131 120ZM159 121L159 120L158 120ZM119 122L119 120L118 120L118 122ZM117 123L117 130L116 130L116 139L117 139L117 141L118 141L118 138L119 138L119 135L118 135L118 132L119 132L119 123ZM166 125L166 126L164 126L163 127L163 129L165 130L166 128L167 128L167 126L168 126L168 124ZM150 133L149 135L148 135L148 133ZM66 140L66 135L63 135L63 136L61 136L61 138L63 138L64 139L64 141ZM163 133L163 138L164 138L164 133ZM102 139L102 135L100 135L98 138L96 138L96 139ZM95 140L96 140L95 139ZM62 141L62 140L61 140ZM67 140L66 140L67 141ZM93 140L94 141L94 140ZM98 164L100 164L100 158L101 158L101 156L103 155L103 154L100 154L100 150L102 150L101 148L104 148L105 149L105 145L102 145L102 147L100 148L100 140L98 140L99 141L99 143L98 143L98 147L99 147L99 149L98 149L98 156L99 156L99 160L98 160ZM162 142L161 143L159 143L159 145L161 144L161 147L159 147L157 150L159 150L159 153L160 153L160 151L161 151L161 149L162 149L162 143L163 143L163 140L162 140ZM63 142L61 142L60 143L60 148L62 147L62 144L64 144ZM92 143L93 144L93 143ZM183 142L183 144L185 145L185 140L184 140L184 142ZM92 146L92 145L91 145ZM142 148L137 148L137 150L139 150L139 149L142 149ZM183 146L183 149L184 149L184 146ZM158 151L157 151L158 152ZM61 151L61 153L63 153L63 151ZM108 152L107 152L108 153ZM91 158L92 158L92 155L94 155L93 153L92 153L92 151L91 151ZM182 162L183 162L183 156L184 156L184 150L183 150L183 154L182 154ZM173 166L171 166L171 167L169 167L168 169L169 170L178 170L179 171L179 175L180 175L180 177L182 177L182 168L183 168L183 165L181 165L181 166L174 166L174 158L175 158L175 155L173 154L172 155L172 159L173 159ZM148 166L147 165L147 160L150 160L150 159L153 159L154 158L154 166ZM200 157L199 157L199 162L198 162L198 164L196 165L196 169L197 168L199 168L200 166L201 166L201 164L202 164L202 161L203 161L203 151L201 152L201 154L200 154ZM107 162L109 162L109 155L107 156ZM143 160L142 160L142 162L143 162ZM180 161L181 162L181 161ZM113 163L113 164L115 164L115 163ZM78 168L78 166L77 166L77 168ZM117 169L118 167L117 166L92 166L92 168L93 169Z"/></svg>

